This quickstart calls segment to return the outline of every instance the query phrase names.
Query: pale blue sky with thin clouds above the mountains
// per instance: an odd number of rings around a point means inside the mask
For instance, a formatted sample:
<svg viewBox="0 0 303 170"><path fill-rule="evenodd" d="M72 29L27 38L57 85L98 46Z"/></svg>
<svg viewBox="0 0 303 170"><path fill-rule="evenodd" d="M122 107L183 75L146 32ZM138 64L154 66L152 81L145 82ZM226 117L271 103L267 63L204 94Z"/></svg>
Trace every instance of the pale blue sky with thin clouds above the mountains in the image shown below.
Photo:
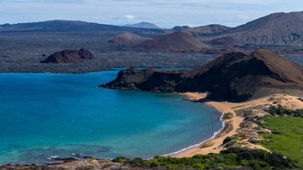
<svg viewBox="0 0 303 170"><path fill-rule="evenodd" d="M80 20L161 28L221 24L236 27L275 12L303 11L303 0L0 0L0 24Z"/></svg>

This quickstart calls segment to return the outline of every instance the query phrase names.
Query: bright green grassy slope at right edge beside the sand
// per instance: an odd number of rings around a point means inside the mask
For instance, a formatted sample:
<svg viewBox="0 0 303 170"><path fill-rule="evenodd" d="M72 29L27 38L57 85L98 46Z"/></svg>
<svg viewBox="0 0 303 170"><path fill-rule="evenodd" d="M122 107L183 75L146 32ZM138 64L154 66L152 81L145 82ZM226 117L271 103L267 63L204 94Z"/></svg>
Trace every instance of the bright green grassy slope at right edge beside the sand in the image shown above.
<svg viewBox="0 0 303 170"><path fill-rule="evenodd" d="M273 109L275 110L275 109ZM284 111L287 111L284 109ZM278 109L272 113L278 113ZM296 112L296 111L293 111ZM293 114L294 116L296 114ZM263 140L250 141L257 143L270 151L285 155L293 160L293 165L303 169L303 118L302 109L301 117L279 116L279 117L262 117L265 123L260 126L267 128L272 133L260 133Z"/></svg>

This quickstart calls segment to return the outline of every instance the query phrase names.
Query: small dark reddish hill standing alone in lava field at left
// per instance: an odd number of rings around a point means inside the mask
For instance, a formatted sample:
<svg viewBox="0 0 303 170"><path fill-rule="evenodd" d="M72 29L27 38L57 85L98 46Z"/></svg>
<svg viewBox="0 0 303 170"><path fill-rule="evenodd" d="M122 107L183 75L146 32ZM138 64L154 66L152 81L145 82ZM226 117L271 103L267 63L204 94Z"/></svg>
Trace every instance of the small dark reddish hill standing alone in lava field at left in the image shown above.
<svg viewBox="0 0 303 170"><path fill-rule="evenodd" d="M81 63L84 59L94 59L94 55L87 49L69 50L64 49L51 54L41 63Z"/></svg>

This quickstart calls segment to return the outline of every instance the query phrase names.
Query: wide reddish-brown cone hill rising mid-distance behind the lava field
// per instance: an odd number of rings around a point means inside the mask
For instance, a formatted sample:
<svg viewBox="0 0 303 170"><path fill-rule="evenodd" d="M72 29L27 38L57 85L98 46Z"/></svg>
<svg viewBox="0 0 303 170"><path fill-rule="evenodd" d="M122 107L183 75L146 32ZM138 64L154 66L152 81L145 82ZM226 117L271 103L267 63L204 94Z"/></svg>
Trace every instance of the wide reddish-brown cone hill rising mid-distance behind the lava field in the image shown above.
<svg viewBox="0 0 303 170"><path fill-rule="evenodd" d="M201 50L208 46L191 35L183 32L174 32L166 36L158 36L152 40L147 40L134 48L144 48L148 50Z"/></svg>

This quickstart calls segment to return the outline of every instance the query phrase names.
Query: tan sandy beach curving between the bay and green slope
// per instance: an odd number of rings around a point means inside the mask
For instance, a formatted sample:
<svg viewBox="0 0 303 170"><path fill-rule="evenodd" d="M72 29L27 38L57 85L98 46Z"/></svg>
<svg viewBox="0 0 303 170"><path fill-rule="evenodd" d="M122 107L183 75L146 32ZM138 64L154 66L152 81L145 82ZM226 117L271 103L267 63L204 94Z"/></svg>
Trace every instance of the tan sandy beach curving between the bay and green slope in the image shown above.
<svg viewBox="0 0 303 170"><path fill-rule="evenodd" d="M182 93L183 95L188 96L188 100L198 101L199 99L205 98L207 93L193 93L193 92L186 92ZM182 158L182 157L192 157L196 154L208 154L208 153L219 153L221 150L224 149L222 147L223 140L227 136L233 136L237 133L237 130L240 126L240 124L244 121L244 118L239 117L236 115L235 110L238 109L244 109L248 107L258 106L258 105L266 105L271 104L274 106L277 106L278 104L281 104L283 107L286 107L288 109L296 110L303 108L303 102L298 100L299 97L292 96L292 95L285 95L285 94L276 94L276 95L270 95L267 97L250 100L246 102L241 103L231 103L231 102L216 102L216 101L209 101L209 102L203 102L203 104L209 104L213 107L216 107L223 111L224 113L232 113L233 117L229 120L225 120L226 123L231 123L233 128L226 134L222 132L217 137L215 137L212 140L207 141L208 145L200 145L199 147L196 147L194 149L179 153L173 157ZM274 101L277 101L276 104L273 104ZM264 147L260 145L253 145L253 148L257 149L265 149ZM267 150L267 149L265 149Z"/></svg>

